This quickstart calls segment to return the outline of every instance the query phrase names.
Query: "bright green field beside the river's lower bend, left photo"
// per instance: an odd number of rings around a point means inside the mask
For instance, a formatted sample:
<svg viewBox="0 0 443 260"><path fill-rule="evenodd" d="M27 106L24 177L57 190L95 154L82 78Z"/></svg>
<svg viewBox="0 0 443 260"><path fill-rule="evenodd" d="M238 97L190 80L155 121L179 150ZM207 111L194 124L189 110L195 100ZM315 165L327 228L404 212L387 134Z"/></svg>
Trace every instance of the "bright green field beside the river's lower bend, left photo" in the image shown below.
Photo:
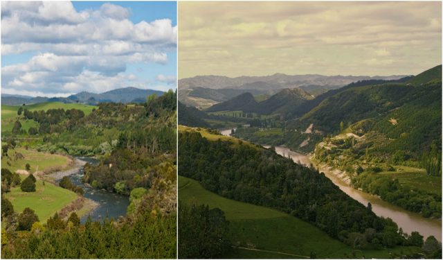
<svg viewBox="0 0 443 260"><path fill-rule="evenodd" d="M23 178L24 176L22 180ZM51 182L45 182L43 185L42 180L37 180L36 184L35 192L23 192L20 187L15 187L3 196L10 200L17 213L21 213L26 207L34 209L42 223L46 223L56 211L60 211L78 197L73 191L55 186Z"/></svg>

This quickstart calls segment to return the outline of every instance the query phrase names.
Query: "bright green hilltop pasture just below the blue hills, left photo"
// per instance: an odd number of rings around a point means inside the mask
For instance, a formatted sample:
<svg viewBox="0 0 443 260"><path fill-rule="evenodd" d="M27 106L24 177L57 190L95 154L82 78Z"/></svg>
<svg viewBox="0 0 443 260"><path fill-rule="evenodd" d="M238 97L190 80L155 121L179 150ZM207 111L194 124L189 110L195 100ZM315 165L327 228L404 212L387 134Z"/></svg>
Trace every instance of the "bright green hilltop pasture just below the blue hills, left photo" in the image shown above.
<svg viewBox="0 0 443 260"><path fill-rule="evenodd" d="M1 132L10 132L14 126L15 121L17 120L17 111L19 110L20 105L1 105ZM35 110L49 110L49 109L57 109L63 108L64 110L71 110L73 108L77 110L82 110L84 114L89 114L92 112L93 108L96 107L94 105L84 105L77 103L61 103L61 102L45 102L38 103L33 105L25 105L23 108L35 111ZM33 120L20 119L21 129L28 131L30 127L38 127L38 123Z"/></svg>

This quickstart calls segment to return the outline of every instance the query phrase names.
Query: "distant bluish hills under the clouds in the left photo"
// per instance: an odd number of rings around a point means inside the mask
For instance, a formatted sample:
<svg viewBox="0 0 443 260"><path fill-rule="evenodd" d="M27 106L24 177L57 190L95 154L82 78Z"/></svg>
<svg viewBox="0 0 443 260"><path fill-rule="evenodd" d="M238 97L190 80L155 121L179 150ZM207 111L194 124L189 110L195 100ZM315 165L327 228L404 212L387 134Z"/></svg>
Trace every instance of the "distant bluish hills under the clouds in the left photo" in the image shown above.
<svg viewBox="0 0 443 260"><path fill-rule="evenodd" d="M115 102L115 103L140 103L146 100L146 96L156 94L157 96L163 95L163 92L153 89L138 89L136 87L124 87L120 89L113 89L109 92L103 92L101 94L91 92L80 92L75 95L64 97L32 97L22 95L10 95L1 94L1 103L3 105L21 105L21 104L35 104L43 102L57 101L62 103L84 103L89 105L96 105L102 102Z"/></svg>

